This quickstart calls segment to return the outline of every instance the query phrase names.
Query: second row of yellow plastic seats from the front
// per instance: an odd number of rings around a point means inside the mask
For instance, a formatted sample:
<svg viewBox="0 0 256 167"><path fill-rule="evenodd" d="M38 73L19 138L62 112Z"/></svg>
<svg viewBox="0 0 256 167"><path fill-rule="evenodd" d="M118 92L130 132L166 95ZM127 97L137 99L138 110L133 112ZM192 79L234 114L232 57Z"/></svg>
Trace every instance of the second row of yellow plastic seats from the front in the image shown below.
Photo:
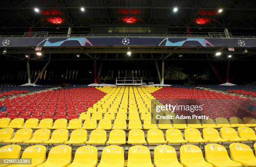
<svg viewBox="0 0 256 167"><path fill-rule="evenodd" d="M160 129L149 129L147 141L145 132L141 129L132 129L126 133L122 129L110 131L107 141L107 132L103 129L95 129L90 132L90 139L87 141L87 131L85 129L73 130L70 134L67 129L56 129L52 132L49 129L38 129L34 132L29 128L19 129L13 137L12 128L0 129L0 142L4 143L45 143L45 144L165 144L165 143L205 143L205 142L245 142L256 141L253 129L249 127L239 127L238 134L235 129L221 128L220 134L217 129L205 128L201 133L198 129L188 128L184 131L184 139L179 129L166 130L166 139ZM33 134L33 137L32 137Z"/></svg>

